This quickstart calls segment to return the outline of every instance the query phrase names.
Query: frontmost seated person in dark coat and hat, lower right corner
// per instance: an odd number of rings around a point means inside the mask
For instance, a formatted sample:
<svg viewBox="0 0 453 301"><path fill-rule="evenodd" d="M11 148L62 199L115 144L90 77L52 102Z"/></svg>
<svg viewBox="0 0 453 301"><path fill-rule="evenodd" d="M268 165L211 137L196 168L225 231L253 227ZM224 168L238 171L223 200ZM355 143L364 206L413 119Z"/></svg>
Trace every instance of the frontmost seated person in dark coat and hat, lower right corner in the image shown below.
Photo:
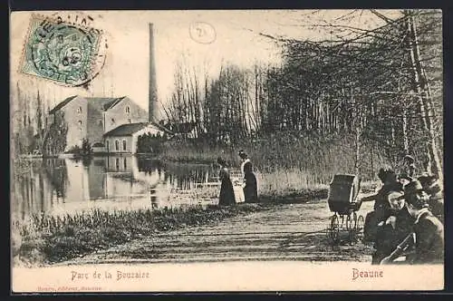
<svg viewBox="0 0 453 301"><path fill-rule="evenodd" d="M439 264L444 261L444 226L429 211L428 195L419 180L404 187L410 215L415 218L415 257L413 264Z"/></svg>

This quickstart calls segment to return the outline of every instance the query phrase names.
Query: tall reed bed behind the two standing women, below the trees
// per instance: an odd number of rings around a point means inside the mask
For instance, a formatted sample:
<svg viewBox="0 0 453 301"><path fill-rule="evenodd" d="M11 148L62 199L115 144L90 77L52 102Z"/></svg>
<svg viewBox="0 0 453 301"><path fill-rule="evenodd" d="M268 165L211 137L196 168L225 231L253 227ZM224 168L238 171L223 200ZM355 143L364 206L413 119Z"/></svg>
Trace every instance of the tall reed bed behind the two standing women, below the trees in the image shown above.
<svg viewBox="0 0 453 301"><path fill-rule="evenodd" d="M376 180L376 173L388 165L385 156L371 142L362 141L358 169L362 180ZM275 172L287 180L304 186L326 185L336 173L355 173L355 143L352 137L301 136L282 133L259 141L244 141L236 145L212 146L203 141L169 141L159 155L161 160L202 161L214 163L221 156L231 166L239 166L237 151L244 149L251 157L255 170ZM279 186L280 178L272 185ZM292 184L290 184L292 185ZM303 187L304 187L303 186Z"/></svg>

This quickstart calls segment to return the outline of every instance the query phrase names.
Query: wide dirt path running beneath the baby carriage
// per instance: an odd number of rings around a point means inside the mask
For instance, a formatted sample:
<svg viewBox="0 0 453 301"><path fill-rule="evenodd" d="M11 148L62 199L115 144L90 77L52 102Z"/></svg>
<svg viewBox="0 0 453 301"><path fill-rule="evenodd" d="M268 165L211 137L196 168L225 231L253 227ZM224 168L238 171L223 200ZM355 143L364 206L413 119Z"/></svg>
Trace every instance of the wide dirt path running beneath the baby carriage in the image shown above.
<svg viewBox="0 0 453 301"><path fill-rule="evenodd" d="M372 202L363 203L363 217ZM361 243L331 246L326 201L288 204L216 225L183 228L74 259L67 264L222 260L371 261Z"/></svg>

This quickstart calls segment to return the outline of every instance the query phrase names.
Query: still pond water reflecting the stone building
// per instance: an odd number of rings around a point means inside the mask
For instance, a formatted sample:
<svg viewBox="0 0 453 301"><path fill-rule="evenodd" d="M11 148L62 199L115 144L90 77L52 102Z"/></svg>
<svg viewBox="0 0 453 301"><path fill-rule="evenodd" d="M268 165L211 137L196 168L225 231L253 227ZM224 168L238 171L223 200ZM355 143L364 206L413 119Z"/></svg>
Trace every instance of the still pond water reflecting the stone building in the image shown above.
<svg viewBox="0 0 453 301"><path fill-rule="evenodd" d="M203 183L217 183L216 177L217 170L209 165L164 164L135 156L33 160L14 185L12 212L25 218L40 212L198 204L208 200L193 191Z"/></svg>

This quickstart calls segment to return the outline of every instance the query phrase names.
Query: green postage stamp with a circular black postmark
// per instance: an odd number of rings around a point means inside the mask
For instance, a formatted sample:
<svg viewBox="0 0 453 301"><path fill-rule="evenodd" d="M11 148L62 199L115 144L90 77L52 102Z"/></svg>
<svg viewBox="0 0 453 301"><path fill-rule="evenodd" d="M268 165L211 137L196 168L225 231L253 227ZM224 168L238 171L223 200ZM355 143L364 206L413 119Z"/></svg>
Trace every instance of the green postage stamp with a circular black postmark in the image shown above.
<svg viewBox="0 0 453 301"><path fill-rule="evenodd" d="M101 30L33 15L20 71L67 86L84 85L105 62L101 42Z"/></svg>

